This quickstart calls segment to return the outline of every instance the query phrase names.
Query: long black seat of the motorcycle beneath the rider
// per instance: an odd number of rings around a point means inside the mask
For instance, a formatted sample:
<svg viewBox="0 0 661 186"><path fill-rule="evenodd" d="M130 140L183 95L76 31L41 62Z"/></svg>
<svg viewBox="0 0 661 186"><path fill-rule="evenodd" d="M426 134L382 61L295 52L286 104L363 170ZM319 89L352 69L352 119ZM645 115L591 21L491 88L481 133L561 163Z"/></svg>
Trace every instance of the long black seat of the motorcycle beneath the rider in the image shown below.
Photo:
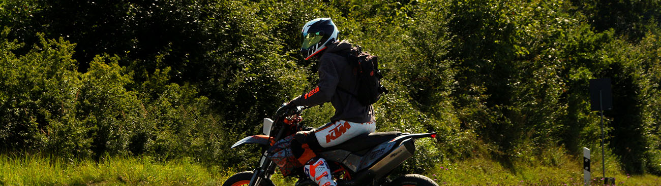
<svg viewBox="0 0 661 186"><path fill-rule="evenodd" d="M401 135L400 132L381 132L358 135L342 144L321 149L321 152L331 150L347 150L350 152L359 152L377 146L383 142L394 139Z"/></svg>

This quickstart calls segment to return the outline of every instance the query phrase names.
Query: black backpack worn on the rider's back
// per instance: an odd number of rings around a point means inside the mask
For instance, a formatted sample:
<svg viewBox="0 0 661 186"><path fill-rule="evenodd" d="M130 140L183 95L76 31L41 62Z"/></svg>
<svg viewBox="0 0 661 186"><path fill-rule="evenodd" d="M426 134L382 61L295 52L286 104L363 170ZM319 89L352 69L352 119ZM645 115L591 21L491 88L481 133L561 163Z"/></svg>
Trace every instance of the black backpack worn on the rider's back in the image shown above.
<svg viewBox="0 0 661 186"><path fill-rule="evenodd" d="M338 55L346 57L346 61L354 67L356 75L356 86L358 94L352 94L358 98L358 102L364 106L376 103L388 90L381 85L381 71L379 71L379 58L375 55L363 52L360 46L351 47L340 51ZM340 90L344 90L339 88ZM348 92L344 90L344 92ZM350 92L349 92L350 93ZM351 93L350 93L351 94Z"/></svg>

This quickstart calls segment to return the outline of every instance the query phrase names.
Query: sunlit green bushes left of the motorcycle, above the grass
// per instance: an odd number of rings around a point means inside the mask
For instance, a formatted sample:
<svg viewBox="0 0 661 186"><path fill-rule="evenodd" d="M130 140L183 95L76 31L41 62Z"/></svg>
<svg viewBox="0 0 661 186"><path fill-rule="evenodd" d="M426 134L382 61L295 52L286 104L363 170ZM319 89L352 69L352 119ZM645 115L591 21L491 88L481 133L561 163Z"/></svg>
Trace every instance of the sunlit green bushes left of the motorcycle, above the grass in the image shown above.
<svg viewBox="0 0 661 186"><path fill-rule="evenodd" d="M3 36L7 36L5 29ZM169 68L134 84L118 57L97 56L87 73L71 59L73 44L42 38L26 55L3 40L3 146L62 156L194 156L218 161L227 146L210 101L190 84L167 83ZM213 147L212 149L209 149Z"/></svg>

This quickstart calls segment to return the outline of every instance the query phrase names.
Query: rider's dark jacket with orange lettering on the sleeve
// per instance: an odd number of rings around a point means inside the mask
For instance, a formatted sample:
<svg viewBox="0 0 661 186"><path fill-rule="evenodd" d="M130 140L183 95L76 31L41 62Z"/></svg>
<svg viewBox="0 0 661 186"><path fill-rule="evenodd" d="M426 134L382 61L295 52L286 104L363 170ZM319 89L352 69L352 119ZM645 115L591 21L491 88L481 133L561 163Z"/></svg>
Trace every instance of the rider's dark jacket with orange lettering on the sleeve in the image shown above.
<svg viewBox="0 0 661 186"><path fill-rule="evenodd" d="M319 58L319 84L317 87L294 100L295 106L317 106L331 101L335 108L335 115L331 121L351 121L364 123L374 121L372 106L363 106L355 96L358 92L356 86L356 71L346 57L337 52L350 49L348 42L335 42L330 44Z"/></svg>

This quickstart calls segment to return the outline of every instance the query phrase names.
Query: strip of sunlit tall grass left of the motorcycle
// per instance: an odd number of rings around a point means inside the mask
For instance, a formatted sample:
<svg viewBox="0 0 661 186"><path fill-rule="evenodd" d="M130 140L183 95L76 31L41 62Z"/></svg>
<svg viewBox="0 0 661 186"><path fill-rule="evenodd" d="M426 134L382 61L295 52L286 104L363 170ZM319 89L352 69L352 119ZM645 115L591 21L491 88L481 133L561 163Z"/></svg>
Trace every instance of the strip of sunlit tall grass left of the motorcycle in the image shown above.
<svg viewBox="0 0 661 186"><path fill-rule="evenodd" d="M232 172L186 159L106 157L95 162L0 155L0 185L221 185Z"/></svg>

